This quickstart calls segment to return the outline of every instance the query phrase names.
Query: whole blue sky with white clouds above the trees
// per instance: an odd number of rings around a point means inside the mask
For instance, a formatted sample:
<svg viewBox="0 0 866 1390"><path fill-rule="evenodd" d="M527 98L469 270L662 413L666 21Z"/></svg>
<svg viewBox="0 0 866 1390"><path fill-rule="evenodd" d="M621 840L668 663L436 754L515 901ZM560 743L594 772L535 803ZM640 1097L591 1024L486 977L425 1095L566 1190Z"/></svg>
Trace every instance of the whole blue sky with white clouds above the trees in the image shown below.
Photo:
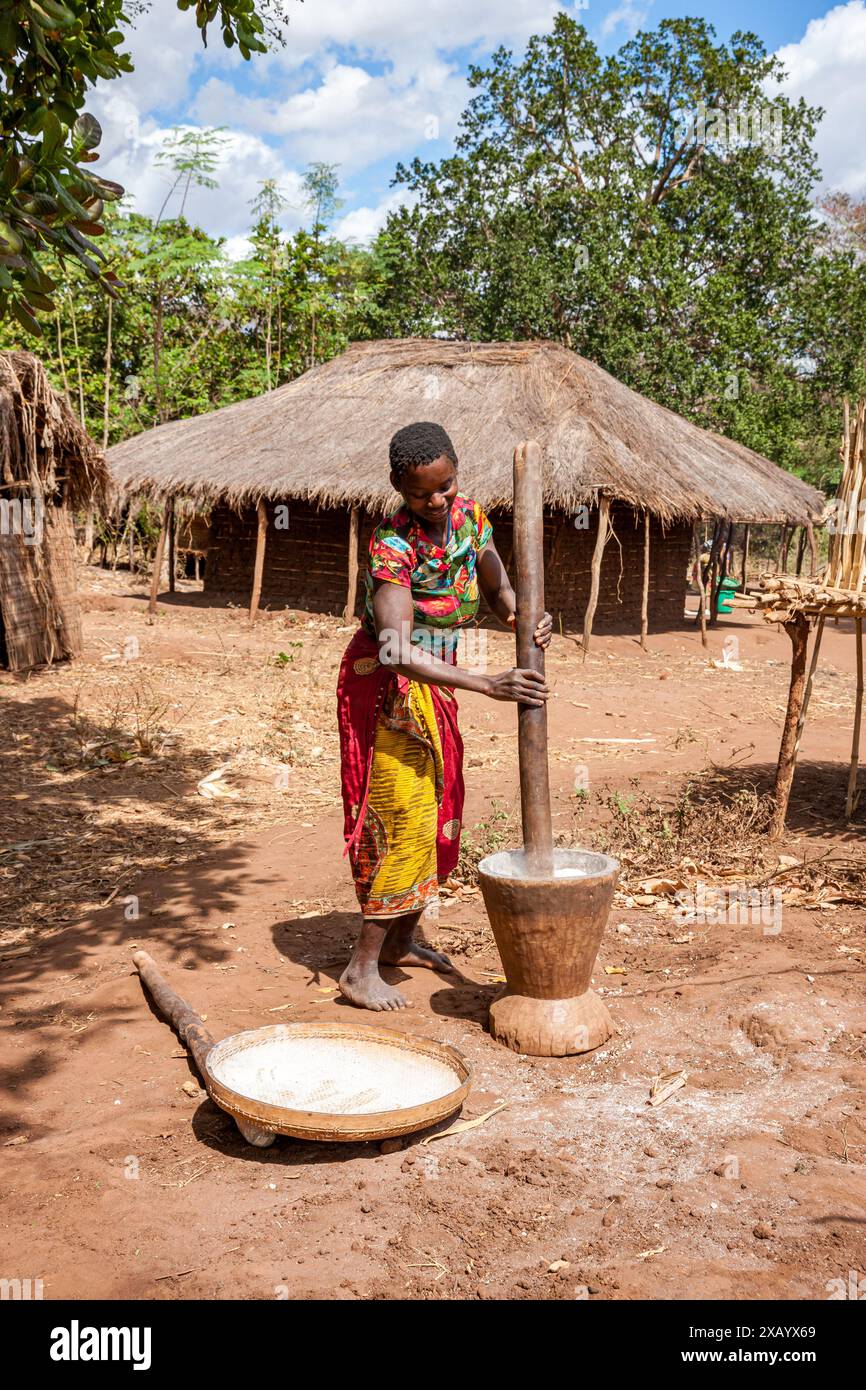
<svg viewBox="0 0 866 1390"><path fill-rule="evenodd" d="M866 0L286 0L286 46L250 63L207 50L189 13L153 0L131 33L135 72L100 83L90 110L101 120L103 171L154 213L165 174L154 164L172 125L225 126L220 188L196 190L188 214L245 249L249 202L264 178L289 200L286 229L303 218L306 165L341 167L345 206L336 231L366 240L402 196L399 160L438 158L452 147L468 88L467 67L500 43L521 51L557 10L585 24L603 51L663 18L702 15L720 38L752 29L790 72L787 90L824 106L819 154L828 186L866 193Z"/></svg>

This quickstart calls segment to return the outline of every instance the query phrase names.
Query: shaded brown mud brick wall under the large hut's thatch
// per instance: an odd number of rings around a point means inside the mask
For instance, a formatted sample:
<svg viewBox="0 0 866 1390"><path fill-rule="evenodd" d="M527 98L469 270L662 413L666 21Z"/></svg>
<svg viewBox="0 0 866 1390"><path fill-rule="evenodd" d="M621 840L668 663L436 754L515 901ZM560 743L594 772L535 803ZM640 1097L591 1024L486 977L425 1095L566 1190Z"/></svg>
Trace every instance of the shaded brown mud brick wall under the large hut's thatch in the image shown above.
<svg viewBox="0 0 866 1390"><path fill-rule="evenodd" d="M268 502L268 534L261 578L261 606L306 609L310 613L342 613L346 602L349 563L348 509L316 507L307 502L284 503L288 528L275 525L275 507ZM363 605L363 566L370 532L378 516L361 513L359 539L359 584L356 613ZM546 605L559 626L582 627L589 596L589 566L595 545L598 513L589 525L578 528L574 517L559 512L545 514ZM513 531L507 512L491 512L493 539L509 573ZM616 538L609 539L602 562L602 582L594 623L596 632L634 632L641 626L644 584L644 521L626 506L612 507ZM240 513L215 506L211 513L211 550L204 588L209 594L246 600L253 584L256 555L256 509ZM677 524L662 530L653 517L649 535L649 628L680 627L685 606L691 528Z"/></svg>

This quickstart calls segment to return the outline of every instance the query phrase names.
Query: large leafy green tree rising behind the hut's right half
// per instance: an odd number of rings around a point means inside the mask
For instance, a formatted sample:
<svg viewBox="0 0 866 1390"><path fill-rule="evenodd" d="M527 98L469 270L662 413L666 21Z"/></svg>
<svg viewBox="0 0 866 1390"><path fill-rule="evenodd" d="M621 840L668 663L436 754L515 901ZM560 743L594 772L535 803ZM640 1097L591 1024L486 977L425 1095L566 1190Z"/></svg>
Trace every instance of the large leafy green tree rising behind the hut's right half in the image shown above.
<svg viewBox="0 0 866 1390"><path fill-rule="evenodd" d="M609 57L559 14L523 57L473 68L456 153L400 165L378 240L393 334L553 338L628 385L803 467L862 281L816 271L820 111L778 93L755 35L663 21ZM859 286L859 288L858 288ZM862 320L860 320L862 322ZM830 359L835 366L830 367Z"/></svg>

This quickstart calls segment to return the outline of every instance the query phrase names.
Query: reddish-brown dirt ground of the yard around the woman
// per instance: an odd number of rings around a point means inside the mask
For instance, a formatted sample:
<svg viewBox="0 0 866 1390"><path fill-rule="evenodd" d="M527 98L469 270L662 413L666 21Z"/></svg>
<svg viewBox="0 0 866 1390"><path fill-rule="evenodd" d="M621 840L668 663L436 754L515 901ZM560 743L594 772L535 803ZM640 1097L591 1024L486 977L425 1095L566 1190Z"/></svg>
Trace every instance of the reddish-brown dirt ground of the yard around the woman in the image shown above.
<svg viewBox="0 0 866 1390"><path fill-rule="evenodd" d="M150 1300L823 1300L863 1276L863 812L844 824L844 624L824 637L778 845L759 810L784 634L740 612L709 653L684 626L648 652L598 638L585 662L555 638L557 834L631 835L595 973L614 1037L544 1061L489 1038L500 965L470 873L425 923L457 973L392 972L414 1008L389 1023L466 1054L464 1119L506 1108L389 1152L259 1151L188 1094L197 1077L131 956L146 947L217 1037L381 1022L335 991L357 926L334 727L349 630L302 613L250 630L192 587L149 623L122 573L82 587L83 659L0 677L0 1275L42 1279L46 1298ZM731 637L741 669L713 667ZM489 634L492 669L512 651ZM460 706L470 847L516 842L514 710ZM689 784L745 808L717 823L713 852L671 830ZM656 821L653 805L669 808ZM695 916L698 881L776 890L778 916ZM680 1072L652 1106L653 1079Z"/></svg>

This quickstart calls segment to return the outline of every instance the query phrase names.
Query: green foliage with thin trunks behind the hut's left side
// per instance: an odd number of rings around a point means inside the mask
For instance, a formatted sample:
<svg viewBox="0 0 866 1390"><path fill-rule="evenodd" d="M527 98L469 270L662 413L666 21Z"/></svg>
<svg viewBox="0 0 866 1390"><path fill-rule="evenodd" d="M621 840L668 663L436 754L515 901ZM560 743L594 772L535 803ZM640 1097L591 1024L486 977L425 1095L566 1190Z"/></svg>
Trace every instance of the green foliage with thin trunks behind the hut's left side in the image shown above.
<svg viewBox="0 0 866 1390"><path fill-rule="evenodd" d="M181 146L182 168L168 164L170 192L181 199L189 179L211 177L209 133L199 132L196 150ZM167 149L171 158L178 154L171 136ZM103 250L124 291L108 302L70 264L54 316L43 316L40 345L54 384L93 438L115 443L256 396L370 334L379 260L329 236L321 221L286 236L284 208L279 189L264 183L243 261L229 261L220 240L181 215L107 210ZM19 346L19 336L13 320L0 322L0 348ZM136 530L147 541L146 512Z"/></svg>

